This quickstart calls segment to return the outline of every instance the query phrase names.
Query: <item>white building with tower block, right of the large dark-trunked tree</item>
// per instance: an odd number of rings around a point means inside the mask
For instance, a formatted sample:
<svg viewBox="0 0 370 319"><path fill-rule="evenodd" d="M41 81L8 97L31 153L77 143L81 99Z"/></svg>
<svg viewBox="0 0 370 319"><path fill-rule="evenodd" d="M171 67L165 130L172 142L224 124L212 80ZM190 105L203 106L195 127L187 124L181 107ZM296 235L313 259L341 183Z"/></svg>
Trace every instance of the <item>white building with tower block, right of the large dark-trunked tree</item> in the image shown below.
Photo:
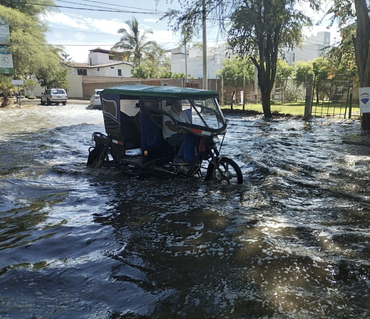
<svg viewBox="0 0 370 319"><path fill-rule="evenodd" d="M330 45L330 32L317 32L316 36L306 37L302 42L302 47L289 50L283 48L285 60L289 65L299 61L313 61L327 52ZM326 48L326 49L324 49Z"/></svg>

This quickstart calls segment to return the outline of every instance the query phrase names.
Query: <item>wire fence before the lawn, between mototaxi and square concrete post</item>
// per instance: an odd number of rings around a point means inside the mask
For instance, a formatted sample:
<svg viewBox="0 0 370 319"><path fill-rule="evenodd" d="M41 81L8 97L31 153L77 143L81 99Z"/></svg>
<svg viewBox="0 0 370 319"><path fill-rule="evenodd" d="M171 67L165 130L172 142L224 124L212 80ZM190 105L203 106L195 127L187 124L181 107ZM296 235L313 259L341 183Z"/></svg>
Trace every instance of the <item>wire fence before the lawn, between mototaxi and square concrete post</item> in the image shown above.
<svg viewBox="0 0 370 319"><path fill-rule="evenodd" d="M306 87L297 87L294 79L275 84L271 91L271 111L280 114L303 115L305 112ZM262 113L262 96L258 90L234 91L234 93L220 96L220 104L223 109L248 110Z"/></svg>

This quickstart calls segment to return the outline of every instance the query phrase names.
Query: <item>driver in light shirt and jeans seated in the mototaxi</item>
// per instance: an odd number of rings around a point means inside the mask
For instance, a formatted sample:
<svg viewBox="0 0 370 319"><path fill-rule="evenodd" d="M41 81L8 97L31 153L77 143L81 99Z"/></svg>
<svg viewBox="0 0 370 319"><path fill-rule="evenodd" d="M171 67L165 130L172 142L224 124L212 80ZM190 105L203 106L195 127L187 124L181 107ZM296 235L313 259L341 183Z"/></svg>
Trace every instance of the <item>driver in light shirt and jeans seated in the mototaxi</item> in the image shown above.
<svg viewBox="0 0 370 319"><path fill-rule="evenodd" d="M175 101L171 105L171 110L168 112L171 116L178 120L179 122L190 123L190 119L185 111L182 111L182 104L180 101ZM180 147L178 153L175 156L176 165L186 165L184 161L184 147L186 143L186 137L188 132L181 130L181 128L176 128L174 122L169 116L163 115L163 137L171 147Z"/></svg>

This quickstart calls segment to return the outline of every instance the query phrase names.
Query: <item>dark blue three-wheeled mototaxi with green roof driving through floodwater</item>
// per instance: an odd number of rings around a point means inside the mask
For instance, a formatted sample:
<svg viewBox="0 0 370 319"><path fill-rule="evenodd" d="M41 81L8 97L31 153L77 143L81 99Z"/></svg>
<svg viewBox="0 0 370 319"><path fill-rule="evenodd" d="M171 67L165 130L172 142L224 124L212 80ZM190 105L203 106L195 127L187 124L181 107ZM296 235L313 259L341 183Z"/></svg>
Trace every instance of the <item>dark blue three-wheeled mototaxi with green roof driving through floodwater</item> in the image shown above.
<svg viewBox="0 0 370 319"><path fill-rule="evenodd" d="M172 86L126 84L100 92L106 134L94 132L87 166L116 167L140 174L152 170L181 178L203 178L225 184L242 184L243 176L232 157L220 154L227 122L209 90ZM181 103L188 121L172 117L170 109ZM184 161L176 165L178 149L163 135L163 117L187 133Z"/></svg>

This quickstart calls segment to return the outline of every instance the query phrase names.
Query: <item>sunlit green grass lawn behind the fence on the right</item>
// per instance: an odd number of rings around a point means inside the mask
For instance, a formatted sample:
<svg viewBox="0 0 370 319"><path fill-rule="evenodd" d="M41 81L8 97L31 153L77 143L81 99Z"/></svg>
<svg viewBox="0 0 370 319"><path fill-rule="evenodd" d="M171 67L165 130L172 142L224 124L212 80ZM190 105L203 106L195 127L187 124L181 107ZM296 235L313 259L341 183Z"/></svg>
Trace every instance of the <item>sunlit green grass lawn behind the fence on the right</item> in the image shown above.
<svg viewBox="0 0 370 319"><path fill-rule="evenodd" d="M340 110L339 105L336 104L335 108L333 107L333 103L329 102L322 102L320 104L314 103L312 106L312 116L327 116L327 114L344 117L344 110L345 110L345 104L344 107L342 106L342 110ZM230 111L231 105L224 105L222 110L225 110L225 112ZM243 110L243 105L233 105L233 110ZM245 104L245 111L251 112L251 113L260 113L262 114L262 104ZM305 101L298 101L294 103L274 103L271 104L271 112L279 115L296 115L296 116L303 116L305 114ZM346 118L348 118L348 112L347 109L346 112ZM360 116L360 108L357 105L352 105L352 117Z"/></svg>

